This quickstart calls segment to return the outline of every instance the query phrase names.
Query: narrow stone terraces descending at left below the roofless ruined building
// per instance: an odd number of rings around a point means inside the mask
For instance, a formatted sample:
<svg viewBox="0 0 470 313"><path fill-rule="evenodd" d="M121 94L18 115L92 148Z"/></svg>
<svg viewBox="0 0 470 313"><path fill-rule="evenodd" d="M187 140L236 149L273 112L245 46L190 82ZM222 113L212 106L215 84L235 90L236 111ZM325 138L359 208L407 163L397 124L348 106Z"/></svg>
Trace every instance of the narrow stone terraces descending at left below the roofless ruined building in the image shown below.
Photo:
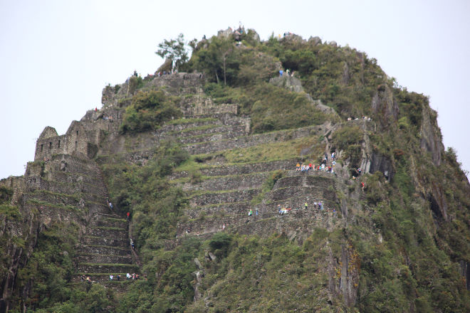
<svg viewBox="0 0 470 313"><path fill-rule="evenodd" d="M28 186L23 201L38 207L46 224L68 219L85 226L72 282L80 283L81 275L89 275L117 292L125 290L125 274L138 273L139 268L132 260L127 221L106 203L108 190L98 165L84 157L57 154L41 171L31 164ZM111 274L120 274L123 280L110 282Z"/></svg>

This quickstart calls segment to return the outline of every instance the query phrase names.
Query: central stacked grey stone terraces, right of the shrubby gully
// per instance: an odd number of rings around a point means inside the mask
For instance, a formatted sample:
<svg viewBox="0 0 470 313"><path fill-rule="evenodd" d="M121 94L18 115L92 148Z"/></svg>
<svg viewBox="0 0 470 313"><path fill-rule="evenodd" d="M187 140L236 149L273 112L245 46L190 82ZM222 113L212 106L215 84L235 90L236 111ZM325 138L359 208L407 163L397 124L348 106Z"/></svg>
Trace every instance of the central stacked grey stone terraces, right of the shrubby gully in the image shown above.
<svg viewBox="0 0 470 313"><path fill-rule="evenodd" d="M194 74L180 73L152 80L147 87L164 86L169 94L183 95L179 106L184 117L165 122L155 132L132 137L132 141L127 140L127 146L122 145L120 149L103 148L100 162L112 162L113 151L119 151L120 159L145 164L152 157L153 148L149 148L157 147L167 139L175 140L189 154L202 156L203 164L199 164L198 170L202 179L199 181L193 181L192 174L187 171L175 171L169 176L172 184L181 186L188 194L189 208L185 212L188 219L177 226L179 238L216 233L224 230L224 225L226 229L239 233L272 233L273 230L282 233L290 232L291 228L308 231L313 227L334 227L333 208L340 211L340 206L334 191L336 179L333 174L295 171L297 158L229 164L224 158L217 159L216 154L228 149L250 149L295 139L328 137L335 125L325 122L298 129L250 134L249 117L237 115L237 105L214 104L202 92L203 85L204 80ZM184 90L187 90L186 94ZM110 95L107 103L117 102L114 97L119 96L119 92ZM214 159L205 160L207 155ZM263 184L277 170L286 174L271 191L263 193ZM263 198L261 202L260 196ZM304 208L305 201L308 202L308 210ZM322 201L325 210L314 209L315 201ZM278 206L290 207L293 211L281 216ZM249 210L255 214L256 208L258 216L248 218ZM103 241L102 238L99 240Z"/></svg>

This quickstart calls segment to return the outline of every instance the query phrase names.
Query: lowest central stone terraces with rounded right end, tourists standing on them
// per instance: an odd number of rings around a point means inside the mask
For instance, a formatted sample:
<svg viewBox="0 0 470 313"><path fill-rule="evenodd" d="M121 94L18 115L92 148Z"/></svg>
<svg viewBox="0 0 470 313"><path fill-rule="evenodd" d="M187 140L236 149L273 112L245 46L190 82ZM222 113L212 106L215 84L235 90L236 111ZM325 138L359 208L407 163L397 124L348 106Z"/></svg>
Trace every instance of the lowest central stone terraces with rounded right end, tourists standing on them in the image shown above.
<svg viewBox="0 0 470 313"><path fill-rule="evenodd" d="M295 166L295 163L292 163ZM250 176L257 176L252 174ZM262 173L260 174L262 176ZM336 180L333 174L310 171L300 173L295 170L288 171L287 176L277 181L274 188L264 195L264 201L252 204L254 196L261 189L247 189L243 191L207 192L189 198L189 221L178 226L179 236L203 235L224 230L239 233L288 233L299 227L312 229L323 227L330 229L334 226L339 201L335 191ZM314 208L314 202L322 201L323 210ZM308 208L305 210L305 202ZM286 215L278 213L281 208L292 208ZM258 208L258 216L256 216ZM252 210L253 216L248 212ZM254 223L257 224L254 226Z"/></svg>

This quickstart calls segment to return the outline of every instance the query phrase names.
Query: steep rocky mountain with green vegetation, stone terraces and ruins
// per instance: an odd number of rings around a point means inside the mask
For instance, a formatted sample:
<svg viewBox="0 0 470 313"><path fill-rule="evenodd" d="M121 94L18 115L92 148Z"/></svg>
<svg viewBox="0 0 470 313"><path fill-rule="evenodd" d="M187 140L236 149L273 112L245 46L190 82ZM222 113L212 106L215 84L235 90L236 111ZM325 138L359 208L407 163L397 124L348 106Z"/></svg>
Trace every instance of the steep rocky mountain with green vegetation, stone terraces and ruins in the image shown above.
<svg viewBox="0 0 470 313"><path fill-rule="evenodd" d="M427 98L350 48L254 34L44 129L0 184L1 310L470 309L470 186Z"/></svg>

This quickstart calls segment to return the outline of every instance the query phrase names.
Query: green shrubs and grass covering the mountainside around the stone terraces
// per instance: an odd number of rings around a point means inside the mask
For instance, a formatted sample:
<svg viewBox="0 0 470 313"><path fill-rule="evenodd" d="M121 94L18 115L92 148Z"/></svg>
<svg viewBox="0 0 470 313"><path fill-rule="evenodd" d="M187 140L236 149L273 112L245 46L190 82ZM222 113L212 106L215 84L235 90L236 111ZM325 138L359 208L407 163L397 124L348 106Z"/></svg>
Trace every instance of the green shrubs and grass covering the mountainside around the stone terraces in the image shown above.
<svg viewBox="0 0 470 313"><path fill-rule="evenodd" d="M147 279L128 284L118 299L100 285L74 285L72 260L78 226L52 223L40 233L31 258L18 275L21 288L31 287L28 309L470 312L470 292L461 273L461 265L470 265L470 187L453 149L443 152L438 162L432 152L421 148L423 128L432 129L431 135L437 141L441 139L429 99L397 87L377 60L355 49L302 41L291 35L279 39L271 36L268 41L258 42L255 35L253 31L242 33L237 38L241 44L236 43L234 36L192 42L194 51L189 60L184 54L184 38L179 36L160 43L157 53L172 60L179 70L202 71L209 80L204 85L204 97L210 97L215 105L237 104L239 115L251 117L251 132L257 134L260 144L241 144L245 148L189 156L185 147L175 142L159 142L157 148L148 147L155 153L142 164L130 162L125 152L101 157L113 203L122 213L131 213L132 238L142 261L140 270ZM268 83L280 69L295 72L294 77L301 80L305 92L334 108L339 117L320 111L303 92ZM125 134L128 141L125 149L145 142L145 136L164 123L195 124L187 125L189 128L182 132L217 127L217 119L212 117L182 118L178 105L190 104L193 93L178 98L171 92L150 90L150 85L146 86L137 76L129 84L132 98L123 100L127 107L120 125L120 134ZM389 89L399 110L397 120L384 122L382 112L374 115L371 103L377 94ZM365 115L372 116L372 122L345 121L347 117ZM328 127L325 122L333 125L330 133L324 133ZM298 138L296 128L323 123L322 127L310 127L312 135ZM172 134L178 133L181 132ZM197 134L192 138L205 136ZM263 138L268 138L267 143ZM333 193L340 200L325 203L341 211L334 218L329 218L331 212L318 212L308 218L301 214L265 218L261 214L243 225L227 219L231 221L227 228L216 232L217 218L224 219L223 223L225 218L232 218L226 214L226 207L246 208L245 202L230 202L240 198L224 200L224 194L251 194L254 189L243 186L236 192L184 192L179 187L209 179L202 175L202 169L286 159L316 161L327 147L341 157L338 165L343 169L338 170L338 176L311 181L303 176L301 188L283 186L275 190L287 198L298 197L294 189L310 187L315 197L317 192L325 198L325 193ZM375 172L349 179L348 174L357 174L361 164L369 164ZM43 162L31 164L31 169L45 174ZM170 182L169 175L176 171L187 174ZM389 173L385 176L382 171ZM251 200L253 209L272 204L267 196L276 181L292 174L271 168L266 168L266 172L266 181ZM246 181L249 175L253 174L246 174ZM360 188L361 182L365 183L364 188ZM220 202L227 203L189 207L192 197L204 193L220 196ZM17 224L22 212L11 206L12 194L11 189L0 187L0 217L5 218L5 223ZM33 194L77 200L76 196L60 193ZM67 208L37 199L27 203ZM202 208L206 211L196 212ZM35 213L34 209L31 211ZM202 225L204 232L199 236L182 233L188 223L207 225ZM262 235L241 235L251 233L251 229ZM2 247L26 248L26 241L20 236L4 235L0 240ZM6 248L1 249L6 255ZM2 258L1 274L8 272L8 264L7 258ZM201 297L194 301L198 296L194 292L196 286ZM20 298L19 293L17 297Z"/></svg>

